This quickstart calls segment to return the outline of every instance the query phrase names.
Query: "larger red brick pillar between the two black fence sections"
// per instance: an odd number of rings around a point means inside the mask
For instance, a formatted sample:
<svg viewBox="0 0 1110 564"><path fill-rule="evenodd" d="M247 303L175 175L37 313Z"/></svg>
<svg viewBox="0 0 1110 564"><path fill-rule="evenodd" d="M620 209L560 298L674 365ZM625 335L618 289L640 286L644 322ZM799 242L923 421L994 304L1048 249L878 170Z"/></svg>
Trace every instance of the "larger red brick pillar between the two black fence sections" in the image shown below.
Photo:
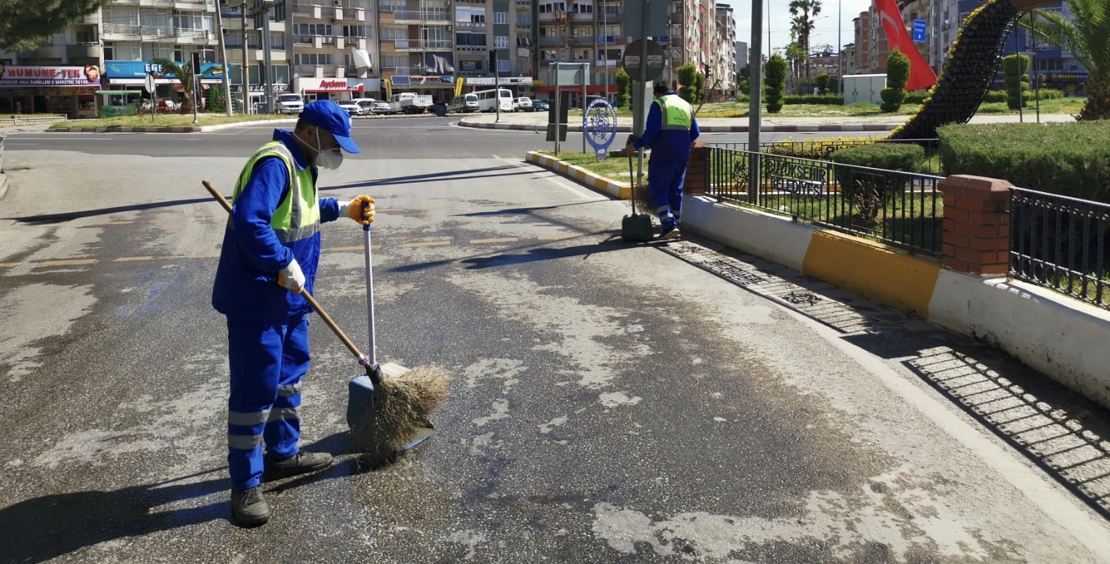
<svg viewBox="0 0 1110 564"><path fill-rule="evenodd" d="M1006 180L953 174L945 194L944 264L968 274L1005 274L1010 256L1010 189Z"/></svg>

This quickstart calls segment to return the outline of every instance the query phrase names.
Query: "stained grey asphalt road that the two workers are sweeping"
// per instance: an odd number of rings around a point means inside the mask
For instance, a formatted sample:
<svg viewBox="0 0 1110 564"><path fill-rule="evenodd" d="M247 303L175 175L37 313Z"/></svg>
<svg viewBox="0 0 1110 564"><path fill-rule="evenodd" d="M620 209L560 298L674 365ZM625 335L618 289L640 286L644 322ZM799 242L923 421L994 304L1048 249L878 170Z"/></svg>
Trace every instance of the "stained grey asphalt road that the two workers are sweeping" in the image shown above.
<svg viewBox="0 0 1110 564"><path fill-rule="evenodd" d="M230 193L269 128L11 135L0 560L1110 558L1102 514L930 377L1001 374L1103 412L774 264L623 244L625 203L522 162L539 135L452 121L356 122L363 155L322 175L325 195L379 201L379 359L455 375L437 430L360 472L360 369L313 323L303 445L340 461L269 484L256 530L230 521L209 305L224 219L200 181ZM361 232L323 239L317 298L365 342Z"/></svg>

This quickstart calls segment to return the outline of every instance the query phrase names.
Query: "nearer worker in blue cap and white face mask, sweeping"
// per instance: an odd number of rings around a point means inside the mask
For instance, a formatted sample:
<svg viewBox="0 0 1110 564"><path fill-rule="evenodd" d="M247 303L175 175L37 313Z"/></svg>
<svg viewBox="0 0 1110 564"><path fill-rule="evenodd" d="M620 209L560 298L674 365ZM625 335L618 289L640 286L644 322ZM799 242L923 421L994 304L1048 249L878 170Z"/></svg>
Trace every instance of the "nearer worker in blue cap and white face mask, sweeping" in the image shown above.
<svg viewBox="0 0 1110 564"><path fill-rule="evenodd" d="M320 260L320 223L374 221L374 200L319 198L320 169L357 153L346 111L331 100L305 104L293 131L246 161L235 182L212 305L228 318L228 467L231 508L244 526L270 518L262 482L331 465L301 451L301 377L309 371L310 306ZM263 444L265 453L263 454Z"/></svg>

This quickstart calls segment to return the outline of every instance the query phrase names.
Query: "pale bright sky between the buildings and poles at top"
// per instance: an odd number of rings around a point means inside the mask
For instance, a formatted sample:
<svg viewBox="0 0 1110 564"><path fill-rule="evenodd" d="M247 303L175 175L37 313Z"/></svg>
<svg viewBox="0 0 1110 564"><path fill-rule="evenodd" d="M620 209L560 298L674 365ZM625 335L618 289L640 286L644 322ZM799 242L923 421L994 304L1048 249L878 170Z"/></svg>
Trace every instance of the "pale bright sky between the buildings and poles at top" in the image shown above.
<svg viewBox="0 0 1110 564"><path fill-rule="evenodd" d="M746 0L716 0L717 3L731 4L733 16L736 18L736 39L751 44L751 3ZM768 8L767 2L770 2ZM851 20L866 11L871 6L871 0L821 0L821 11L817 14L817 24L814 27L814 34L809 39L810 49L816 51L817 46L828 44L837 51L837 20L840 21L840 43L851 43L855 27ZM840 17L837 17L839 7ZM764 22L763 52L767 54L774 49L786 47L790 42L790 0L763 0ZM770 16L770 47L767 49L767 29Z"/></svg>

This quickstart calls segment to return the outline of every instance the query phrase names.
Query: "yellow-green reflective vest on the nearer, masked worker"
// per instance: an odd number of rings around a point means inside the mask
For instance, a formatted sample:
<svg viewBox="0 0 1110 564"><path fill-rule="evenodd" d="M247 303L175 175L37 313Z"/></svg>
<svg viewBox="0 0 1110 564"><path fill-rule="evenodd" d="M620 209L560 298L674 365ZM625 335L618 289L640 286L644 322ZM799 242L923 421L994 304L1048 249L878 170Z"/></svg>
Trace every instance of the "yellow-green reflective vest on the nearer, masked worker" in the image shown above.
<svg viewBox="0 0 1110 564"><path fill-rule="evenodd" d="M285 163L290 181L285 195L270 218L270 226L276 233L278 240L291 243L315 235L320 231L320 201L316 199L316 188L312 183L312 171L309 168L297 171L293 153L281 141L271 141L262 145L246 161L243 172L239 175L239 182L235 183L235 193L232 194L231 201L234 202L246 187L254 164L268 157L278 157Z"/></svg>

